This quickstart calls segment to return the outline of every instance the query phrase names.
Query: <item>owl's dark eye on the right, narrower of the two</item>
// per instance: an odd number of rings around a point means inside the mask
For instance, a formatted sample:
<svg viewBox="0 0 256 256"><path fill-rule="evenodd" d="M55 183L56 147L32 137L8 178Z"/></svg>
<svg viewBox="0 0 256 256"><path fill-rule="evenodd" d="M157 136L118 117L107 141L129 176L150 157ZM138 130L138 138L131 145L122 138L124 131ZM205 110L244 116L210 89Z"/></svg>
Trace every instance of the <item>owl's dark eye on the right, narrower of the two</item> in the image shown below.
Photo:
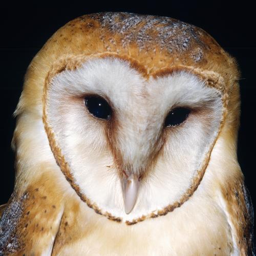
<svg viewBox="0 0 256 256"><path fill-rule="evenodd" d="M166 119L165 119L165 126L176 126L183 123L188 115L190 113L190 110L187 108L175 108L171 110Z"/></svg>

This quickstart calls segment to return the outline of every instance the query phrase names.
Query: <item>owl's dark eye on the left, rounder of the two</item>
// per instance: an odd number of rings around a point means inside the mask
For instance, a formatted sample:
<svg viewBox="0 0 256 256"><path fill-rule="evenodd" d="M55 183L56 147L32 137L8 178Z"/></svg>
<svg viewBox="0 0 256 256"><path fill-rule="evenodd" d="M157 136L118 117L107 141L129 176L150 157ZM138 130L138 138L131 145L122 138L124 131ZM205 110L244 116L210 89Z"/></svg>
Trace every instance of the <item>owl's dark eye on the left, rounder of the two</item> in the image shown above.
<svg viewBox="0 0 256 256"><path fill-rule="evenodd" d="M88 111L97 118L109 119L111 116L110 105L100 96L85 97L84 104L87 106Z"/></svg>

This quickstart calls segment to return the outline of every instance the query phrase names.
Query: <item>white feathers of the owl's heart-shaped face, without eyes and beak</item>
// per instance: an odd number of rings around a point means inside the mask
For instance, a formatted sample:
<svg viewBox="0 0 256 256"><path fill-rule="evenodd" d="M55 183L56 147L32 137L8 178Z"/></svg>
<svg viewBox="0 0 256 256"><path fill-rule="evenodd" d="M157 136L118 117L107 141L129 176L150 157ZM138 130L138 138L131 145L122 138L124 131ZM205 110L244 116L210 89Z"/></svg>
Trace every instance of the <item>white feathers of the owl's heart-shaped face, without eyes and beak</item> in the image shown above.
<svg viewBox="0 0 256 256"><path fill-rule="evenodd" d="M98 94L113 105L117 145L123 162L138 174L157 150L168 129L163 154L142 182L137 203L124 212L122 190L107 143L104 123L83 104L82 95ZM54 77L49 89L48 117L62 154L82 193L103 212L124 221L148 215L178 201L197 175L222 119L221 95L191 73L178 72L145 80L129 63L113 58L87 61L75 71ZM146 95L146 97L145 97ZM76 100L74 100L74 98ZM164 128L176 106L196 109L178 127Z"/></svg>

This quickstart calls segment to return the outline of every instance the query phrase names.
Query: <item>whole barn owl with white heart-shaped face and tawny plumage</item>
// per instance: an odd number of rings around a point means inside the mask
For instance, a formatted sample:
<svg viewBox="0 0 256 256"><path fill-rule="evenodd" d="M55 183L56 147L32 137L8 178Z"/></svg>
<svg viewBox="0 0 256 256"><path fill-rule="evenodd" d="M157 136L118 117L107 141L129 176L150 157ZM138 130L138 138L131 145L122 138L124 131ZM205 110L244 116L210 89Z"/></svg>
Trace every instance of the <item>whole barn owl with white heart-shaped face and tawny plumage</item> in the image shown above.
<svg viewBox="0 0 256 256"><path fill-rule="evenodd" d="M239 72L205 31L81 16L36 54L14 115L1 255L248 255Z"/></svg>

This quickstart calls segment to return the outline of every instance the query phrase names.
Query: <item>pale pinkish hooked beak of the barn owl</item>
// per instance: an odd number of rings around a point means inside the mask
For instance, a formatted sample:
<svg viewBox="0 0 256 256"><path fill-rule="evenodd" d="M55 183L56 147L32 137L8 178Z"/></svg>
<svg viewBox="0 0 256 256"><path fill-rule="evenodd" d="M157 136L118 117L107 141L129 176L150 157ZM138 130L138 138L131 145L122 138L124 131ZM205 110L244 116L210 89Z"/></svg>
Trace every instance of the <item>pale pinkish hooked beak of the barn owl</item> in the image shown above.
<svg viewBox="0 0 256 256"><path fill-rule="evenodd" d="M126 214L130 214L136 203L139 185L139 178L133 174L129 177L124 176L122 179L124 210Z"/></svg>

